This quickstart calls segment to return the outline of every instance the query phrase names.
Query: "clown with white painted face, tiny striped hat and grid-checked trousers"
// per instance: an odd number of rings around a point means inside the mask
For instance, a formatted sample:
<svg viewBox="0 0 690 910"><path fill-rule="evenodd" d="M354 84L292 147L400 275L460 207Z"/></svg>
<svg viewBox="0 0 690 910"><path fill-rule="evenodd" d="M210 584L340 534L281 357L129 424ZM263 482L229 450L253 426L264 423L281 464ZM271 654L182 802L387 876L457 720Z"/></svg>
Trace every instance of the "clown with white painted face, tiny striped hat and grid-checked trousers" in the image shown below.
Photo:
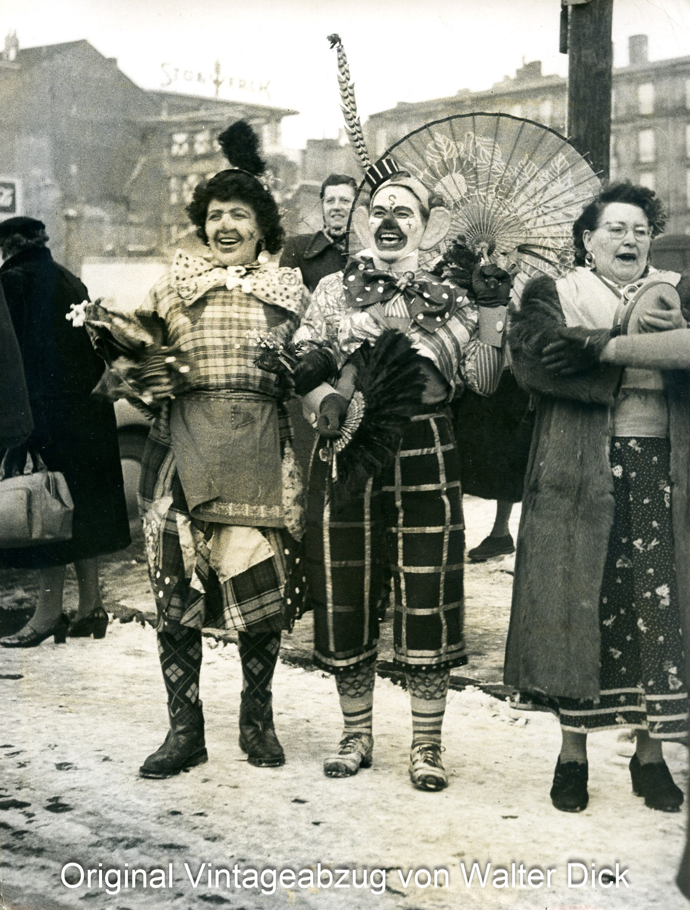
<svg viewBox="0 0 690 910"><path fill-rule="evenodd" d="M445 405L463 384L480 394L495 390L503 367L503 326L496 324L504 319L510 278L495 267L475 275L475 297L491 311L482 320L491 329L487 342L478 331L480 308L465 290L419 267L419 251L434 248L450 226L442 200L390 158L366 176L371 202L353 215L365 249L319 283L295 334L307 359L313 349L329 349L340 371L335 387L302 389L305 413L325 440L336 440L344 422L346 431L358 349L390 329L407 339L421 381L395 455L345 506L334 495L325 449L316 447L306 597L314 610L315 662L335 673L345 725L324 770L345 777L372 763L379 619L392 580L395 662L412 704L410 777L418 789L440 790L447 784L440 756L450 671L466 662L462 497Z"/></svg>

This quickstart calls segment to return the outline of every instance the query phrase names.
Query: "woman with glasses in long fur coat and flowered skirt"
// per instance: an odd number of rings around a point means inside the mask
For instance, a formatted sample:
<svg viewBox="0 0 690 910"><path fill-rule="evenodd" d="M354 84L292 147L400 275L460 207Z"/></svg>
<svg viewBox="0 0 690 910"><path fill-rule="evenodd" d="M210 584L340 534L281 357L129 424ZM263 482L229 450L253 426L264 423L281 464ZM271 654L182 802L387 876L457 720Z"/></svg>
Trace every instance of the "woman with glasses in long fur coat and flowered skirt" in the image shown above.
<svg viewBox="0 0 690 910"><path fill-rule="evenodd" d="M505 682L560 720L551 799L566 812L588 802L587 734L625 726L633 792L665 812L683 801L662 742L687 735L690 281L649 265L664 223L651 190L606 188L575 221L577 267L526 286L509 336L537 405ZM669 343L615 338L655 282L639 329Z"/></svg>

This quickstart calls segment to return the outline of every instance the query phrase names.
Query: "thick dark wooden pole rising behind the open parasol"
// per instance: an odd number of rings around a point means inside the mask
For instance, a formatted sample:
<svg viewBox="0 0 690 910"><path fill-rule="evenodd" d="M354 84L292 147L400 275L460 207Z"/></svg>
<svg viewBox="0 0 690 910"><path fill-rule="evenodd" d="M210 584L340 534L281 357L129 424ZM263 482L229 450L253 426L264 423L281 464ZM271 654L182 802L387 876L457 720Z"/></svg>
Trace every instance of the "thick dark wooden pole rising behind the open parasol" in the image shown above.
<svg viewBox="0 0 690 910"><path fill-rule="evenodd" d="M568 55L568 136L603 180L611 149L614 0L561 0L561 53Z"/></svg>

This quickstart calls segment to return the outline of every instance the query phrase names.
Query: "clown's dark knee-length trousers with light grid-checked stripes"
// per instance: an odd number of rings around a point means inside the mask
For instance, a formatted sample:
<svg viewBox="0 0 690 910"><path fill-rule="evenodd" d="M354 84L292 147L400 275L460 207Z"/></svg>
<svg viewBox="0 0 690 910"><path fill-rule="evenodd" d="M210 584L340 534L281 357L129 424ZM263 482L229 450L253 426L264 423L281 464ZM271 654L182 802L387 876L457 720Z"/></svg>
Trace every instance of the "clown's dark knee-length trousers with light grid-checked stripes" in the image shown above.
<svg viewBox="0 0 690 910"><path fill-rule="evenodd" d="M305 534L315 662L338 672L375 659L392 578L395 661L420 670L465 663L465 531L448 414L413 418L381 477L337 513L330 506L331 465L319 458L320 448Z"/></svg>

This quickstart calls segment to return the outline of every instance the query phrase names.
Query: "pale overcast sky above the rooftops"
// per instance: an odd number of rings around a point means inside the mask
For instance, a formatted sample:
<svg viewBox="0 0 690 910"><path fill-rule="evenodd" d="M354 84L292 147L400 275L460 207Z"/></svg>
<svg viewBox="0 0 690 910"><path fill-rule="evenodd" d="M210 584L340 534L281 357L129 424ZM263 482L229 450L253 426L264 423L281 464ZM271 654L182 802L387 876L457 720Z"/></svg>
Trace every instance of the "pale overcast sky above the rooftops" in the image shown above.
<svg viewBox="0 0 690 910"><path fill-rule="evenodd" d="M616 66L638 33L653 60L690 56L690 0L615 0L614 10ZM3 0L0 35L15 29L25 47L86 38L138 85L197 94L213 94L218 60L235 80L220 96L298 110L284 141L303 147L342 122L331 32L343 38L364 120L398 101L488 88L523 58L565 75L559 11L560 0ZM251 89L238 89L240 78Z"/></svg>

